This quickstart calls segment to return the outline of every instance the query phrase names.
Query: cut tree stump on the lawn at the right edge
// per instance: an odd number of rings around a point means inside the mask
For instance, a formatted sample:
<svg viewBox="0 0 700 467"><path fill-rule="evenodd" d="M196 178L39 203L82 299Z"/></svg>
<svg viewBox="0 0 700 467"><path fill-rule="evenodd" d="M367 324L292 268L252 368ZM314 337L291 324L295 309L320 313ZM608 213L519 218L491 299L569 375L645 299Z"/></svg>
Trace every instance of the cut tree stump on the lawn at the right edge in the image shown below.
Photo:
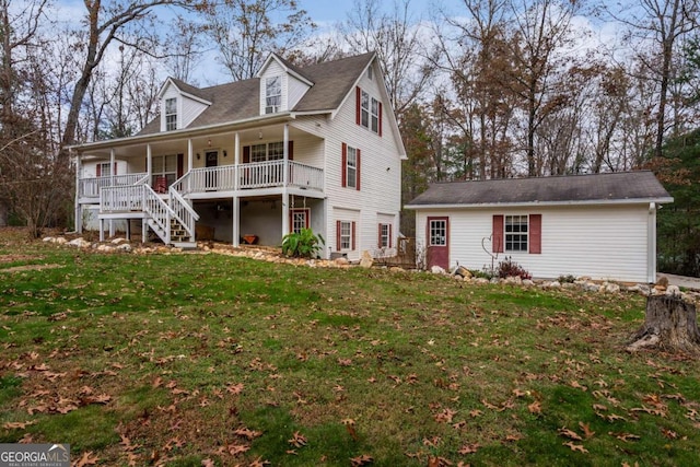
<svg viewBox="0 0 700 467"><path fill-rule="evenodd" d="M675 295L650 295L644 325L637 331L628 352L656 347L663 350L700 353L696 306Z"/></svg>

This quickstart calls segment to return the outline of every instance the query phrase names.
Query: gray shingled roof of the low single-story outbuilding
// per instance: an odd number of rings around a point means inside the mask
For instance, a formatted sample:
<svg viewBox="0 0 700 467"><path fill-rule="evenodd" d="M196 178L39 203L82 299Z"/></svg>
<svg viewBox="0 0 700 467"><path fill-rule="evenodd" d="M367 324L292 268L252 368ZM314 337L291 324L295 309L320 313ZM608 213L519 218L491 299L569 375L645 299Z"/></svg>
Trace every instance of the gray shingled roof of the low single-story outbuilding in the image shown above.
<svg viewBox="0 0 700 467"><path fill-rule="evenodd" d="M537 178L502 178L431 185L408 207L582 201L649 200L670 202L670 195L650 171Z"/></svg>

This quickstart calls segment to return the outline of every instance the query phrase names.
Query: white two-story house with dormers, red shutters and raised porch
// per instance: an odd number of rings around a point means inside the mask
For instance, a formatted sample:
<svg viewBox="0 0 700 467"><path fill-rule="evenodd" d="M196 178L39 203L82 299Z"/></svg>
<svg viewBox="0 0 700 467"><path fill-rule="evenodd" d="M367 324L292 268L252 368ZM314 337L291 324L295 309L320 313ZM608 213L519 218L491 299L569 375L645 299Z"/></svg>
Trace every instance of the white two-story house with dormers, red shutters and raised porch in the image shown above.
<svg viewBox="0 0 700 467"><path fill-rule="evenodd" d="M160 98L137 136L72 148L78 231L93 212L101 238L120 224L276 246L311 227L323 257L395 247L406 151L375 54L304 68L272 54L256 78L168 79Z"/></svg>

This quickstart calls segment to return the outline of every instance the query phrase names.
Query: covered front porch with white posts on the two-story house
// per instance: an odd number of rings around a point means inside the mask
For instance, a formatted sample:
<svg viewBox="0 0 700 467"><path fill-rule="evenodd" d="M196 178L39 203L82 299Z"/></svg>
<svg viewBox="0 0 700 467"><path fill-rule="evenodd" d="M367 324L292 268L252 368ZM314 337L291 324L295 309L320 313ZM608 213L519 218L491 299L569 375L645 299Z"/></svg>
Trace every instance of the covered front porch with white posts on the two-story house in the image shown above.
<svg viewBox="0 0 700 467"><path fill-rule="evenodd" d="M229 200L233 211L242 200L276 199L282 208L278 219L283 234L291 229L290 197L324 197L325 141L289 122L215 132L170 131L91 143L77 151L78 231L89 206L98 206L101 219L112 221L127 212L133 217L135 207L143 206L143 190L133 189L138 186L165 203L182 199L195 210L221 200ZM97 166L102 171L93 168ZM237 245L240 232L231 226L231 243Z"/></svg>

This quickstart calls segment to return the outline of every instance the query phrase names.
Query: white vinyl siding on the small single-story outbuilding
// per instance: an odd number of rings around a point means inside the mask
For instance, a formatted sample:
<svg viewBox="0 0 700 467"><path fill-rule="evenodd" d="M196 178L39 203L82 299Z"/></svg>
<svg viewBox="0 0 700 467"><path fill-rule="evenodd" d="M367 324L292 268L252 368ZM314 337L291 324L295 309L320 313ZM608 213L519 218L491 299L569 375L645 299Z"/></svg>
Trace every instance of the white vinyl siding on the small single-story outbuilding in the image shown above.
<svg viewBox="0 0 700 467"><path fill-rule="evenodd" d="M533 209L419 210L416 215L418 245L425 245L427 217L450 217L450 266L469 269L491 266L482 248L490 245L493 214L527 215ZM495 264L511 257L535 278L562 275L599 280L648 281L649 205L537 207L541 213L541 254L506 252Z"/></svg>

